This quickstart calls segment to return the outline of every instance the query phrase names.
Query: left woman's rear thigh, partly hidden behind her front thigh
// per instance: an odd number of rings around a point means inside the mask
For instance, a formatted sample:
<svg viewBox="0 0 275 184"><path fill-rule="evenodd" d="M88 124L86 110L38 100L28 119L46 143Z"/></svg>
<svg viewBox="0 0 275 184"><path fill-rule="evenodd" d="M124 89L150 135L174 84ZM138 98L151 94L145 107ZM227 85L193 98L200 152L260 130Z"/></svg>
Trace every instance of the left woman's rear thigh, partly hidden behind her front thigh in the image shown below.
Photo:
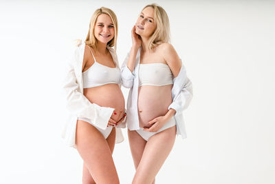
<svg viewBox="0 0 275 184"><path fill-rule="evenodd" d="M109 136L106 139L109 148L111 150L111 153L113 154L113 149L115 147L115 127L113 127L113 130L109 134ZM85 162L83 162L83 177L82 177L83 184L94 184L96 183L94 179L91 177L91 174L88 170L88 168L85 165Z"/></svg>

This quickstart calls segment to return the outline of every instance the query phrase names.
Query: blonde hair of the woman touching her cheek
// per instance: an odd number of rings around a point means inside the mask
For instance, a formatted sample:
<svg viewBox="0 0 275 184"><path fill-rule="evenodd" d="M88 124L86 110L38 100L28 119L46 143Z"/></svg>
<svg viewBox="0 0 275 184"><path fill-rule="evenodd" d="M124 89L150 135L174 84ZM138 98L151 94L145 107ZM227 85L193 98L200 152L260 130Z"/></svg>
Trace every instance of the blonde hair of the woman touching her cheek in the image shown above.
<svg viewBox="0 0 275 184"><path fill-rule="evenodd" d="M142 11L147 7L151 7L154 9L154 17L156 23L155 31L151 35L148 41L148 45L146 45L146 49L152 50L161 43L170 43L170 24L168 15L164 8L158 6L156 3L152 3L145 6Z"/></svg>

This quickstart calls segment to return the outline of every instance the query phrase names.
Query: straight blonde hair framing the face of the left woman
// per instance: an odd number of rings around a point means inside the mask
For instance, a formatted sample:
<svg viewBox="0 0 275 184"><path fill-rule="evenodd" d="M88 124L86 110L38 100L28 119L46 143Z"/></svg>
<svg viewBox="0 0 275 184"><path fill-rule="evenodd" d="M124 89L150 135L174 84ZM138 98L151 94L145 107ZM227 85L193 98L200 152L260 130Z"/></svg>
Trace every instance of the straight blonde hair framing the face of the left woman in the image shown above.
<svg viewBox="0 0 275 184"><path fill-rule="evenodd" d="M116 18L115 13L111 9L105 8L105 7L98 8L94 12L94 14L91 16L91 21L90 21L90 25L89 25L89 32L88 32L87 37L85 39L85 43L87 45L91 46L91 48L94 48L95 50L98 49L98 40L94 36L94 26L96 25L96 20L98 19L98 16L100 14L109 15L109 17L111 17L111 20L113 21L113 27L115 28L115 36L113 37L113 39L111 39L107 43L107 45L109 47L114 47L116 49L116 41L118 39L118 19Z"/></svg>

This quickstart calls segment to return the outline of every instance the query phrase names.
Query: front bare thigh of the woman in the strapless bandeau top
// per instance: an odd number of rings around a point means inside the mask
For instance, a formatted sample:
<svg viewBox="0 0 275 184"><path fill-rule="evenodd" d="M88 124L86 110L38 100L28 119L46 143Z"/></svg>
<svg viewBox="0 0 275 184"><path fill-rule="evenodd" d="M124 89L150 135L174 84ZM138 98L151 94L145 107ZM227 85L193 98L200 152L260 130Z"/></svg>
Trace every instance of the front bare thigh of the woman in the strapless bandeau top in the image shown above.
<svg viewBox="0 0 275 184"><path fill-rule="evenodd" d="M151 184L175 143L176 127L170 127L148 139L133 183Z"/></svg>

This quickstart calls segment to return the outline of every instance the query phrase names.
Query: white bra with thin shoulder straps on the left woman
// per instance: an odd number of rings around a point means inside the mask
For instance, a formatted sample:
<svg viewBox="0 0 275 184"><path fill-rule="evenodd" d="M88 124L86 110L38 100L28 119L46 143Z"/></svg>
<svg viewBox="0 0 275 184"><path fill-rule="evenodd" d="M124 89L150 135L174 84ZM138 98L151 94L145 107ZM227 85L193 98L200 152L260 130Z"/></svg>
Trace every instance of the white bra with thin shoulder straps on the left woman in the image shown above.
<svg viewBox="0 0 275 184"><path fill-rule="evenodd" d="M91 48L89 48L91 52ZM93 52L91 55L94 57ZM100 85L105 85L108 83L118 83L120 84L120 68L115 65L115 68L110 68L106 65L102 65L96 62L94 57L94 64L83 72L83 88L93 88Z"/></svg>

